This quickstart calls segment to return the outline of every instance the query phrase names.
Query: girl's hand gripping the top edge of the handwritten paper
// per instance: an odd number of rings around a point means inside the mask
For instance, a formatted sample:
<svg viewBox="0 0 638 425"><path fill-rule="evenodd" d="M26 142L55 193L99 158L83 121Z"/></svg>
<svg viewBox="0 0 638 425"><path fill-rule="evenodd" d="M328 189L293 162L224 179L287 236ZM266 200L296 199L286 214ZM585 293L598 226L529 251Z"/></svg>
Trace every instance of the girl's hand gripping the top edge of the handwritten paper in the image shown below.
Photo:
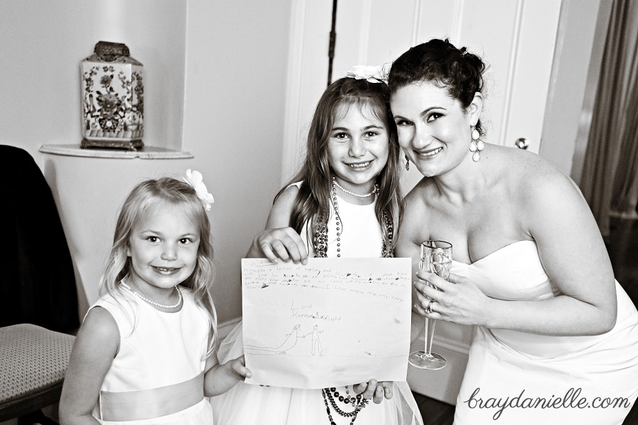
<svg viewBox="0 0 638 425"><path fill-rule="evenodd" d="M259 255L261 254L261 255ZM281 261L306 264L308 251L301 236L292 227L265 229L252 240L248 256L265 256L276 263Z"/></svg>

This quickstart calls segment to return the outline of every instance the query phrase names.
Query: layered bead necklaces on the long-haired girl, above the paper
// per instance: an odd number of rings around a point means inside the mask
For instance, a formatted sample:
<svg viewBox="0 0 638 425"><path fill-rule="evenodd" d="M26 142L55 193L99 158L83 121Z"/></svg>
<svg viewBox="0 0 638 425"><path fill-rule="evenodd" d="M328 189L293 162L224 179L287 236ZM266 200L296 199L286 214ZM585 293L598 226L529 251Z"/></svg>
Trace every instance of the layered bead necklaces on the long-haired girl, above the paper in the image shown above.
<svg viewBox="0 0 638 425"><path fill-rule="evenodd" d="M369 196L374 195L375 193L379 193L379 185L375 184L374 189L370 193L366 193L365 195L359 195L358 193L353 193L343 188L339 182L335 179L335 176L332 176L332 207L335 208L335 225L337 227L337 257L341 256L341 232L342 232L342 220L339 215L339 203L337 202L337 187L340 188L345 193L356 196L357 198L368 198ZM388 218L388 215L384 211L383 213L383 221L384 221L384 231L388 237L388 241L392 242L393 237L393 226ZM318 229L315 229L314 232L314 246L316 254L320 258L328 257L328 220L325 220L323 214L319 215L319 223ZM381 238L381 257L390 257L392 253L390 249L388 249L388 244L386 244L386 238Z"/></svg>

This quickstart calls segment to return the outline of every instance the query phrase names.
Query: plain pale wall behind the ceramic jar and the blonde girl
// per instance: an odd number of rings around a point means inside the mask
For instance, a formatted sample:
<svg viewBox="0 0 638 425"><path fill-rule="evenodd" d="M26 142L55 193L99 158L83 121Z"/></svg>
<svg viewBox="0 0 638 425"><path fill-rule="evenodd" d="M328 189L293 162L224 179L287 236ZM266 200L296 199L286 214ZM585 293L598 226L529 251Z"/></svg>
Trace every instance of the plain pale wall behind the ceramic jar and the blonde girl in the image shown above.
<svg viewBox="0 0 638 425"><path fill-rule="evenodd" d="M26 149L54 192L74 259L82 316L113 237L116 210L141 179L202 172L220 322L241 314L240 258L263 228L281 174L291 0L0 0L0 144ZM124 42L145 68L146 145L194 159L41 154L78 144L79 62L99 40Z"/></svg>

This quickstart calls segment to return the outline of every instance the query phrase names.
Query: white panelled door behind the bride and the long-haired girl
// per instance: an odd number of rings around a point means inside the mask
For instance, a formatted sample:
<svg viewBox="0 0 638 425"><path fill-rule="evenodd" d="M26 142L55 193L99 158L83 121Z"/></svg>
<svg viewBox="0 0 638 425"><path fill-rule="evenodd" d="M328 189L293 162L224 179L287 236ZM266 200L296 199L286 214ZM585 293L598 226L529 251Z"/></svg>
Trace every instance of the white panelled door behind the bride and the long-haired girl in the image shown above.
<svg viewBox="0 0 638 425"><path fill-rule="evenodd" d="M332 79L357 64L389 66L408 47L449 38L488 62L481 118L486 141L514 146L525 138L527 150L538 153L560 10L561 0L340 0ZM295 0L292 13L282 180L303 157L308 125L327 84L332 1ZM420 178L415 167L405 173L405 192ZM437 324L435 348L448 365L437 371L409 368L410 387L454 404L472 331ZM413 347L422 345L420 338Z"/></svg>

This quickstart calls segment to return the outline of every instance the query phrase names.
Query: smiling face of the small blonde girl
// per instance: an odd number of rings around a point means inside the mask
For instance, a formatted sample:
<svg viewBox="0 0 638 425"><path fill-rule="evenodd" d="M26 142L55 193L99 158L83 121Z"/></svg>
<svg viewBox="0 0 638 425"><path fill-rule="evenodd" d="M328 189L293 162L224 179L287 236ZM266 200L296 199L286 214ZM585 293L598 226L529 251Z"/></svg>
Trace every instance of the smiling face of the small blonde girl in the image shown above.
<svg viewBox="0 0 638 425"><path fill-rule="evenodd" d="M149 208L133 226L128 241L129 284L162 302L193 273L199 240L198 226L184 208L170 204Z"/></svg>

